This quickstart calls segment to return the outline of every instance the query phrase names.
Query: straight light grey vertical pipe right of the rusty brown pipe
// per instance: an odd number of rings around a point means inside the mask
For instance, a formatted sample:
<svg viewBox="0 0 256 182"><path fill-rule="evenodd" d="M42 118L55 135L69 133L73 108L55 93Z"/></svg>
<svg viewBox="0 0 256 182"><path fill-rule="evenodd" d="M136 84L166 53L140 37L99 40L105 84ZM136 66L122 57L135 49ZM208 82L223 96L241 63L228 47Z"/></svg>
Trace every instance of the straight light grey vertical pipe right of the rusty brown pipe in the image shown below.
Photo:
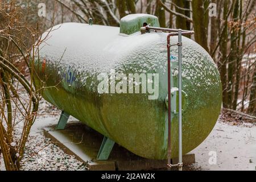
<svg viewBox="0 0 256 182"><path fill-rule="evenodd" d="M178 53L179 53L179 171L182 171L182 70L181 70L181 29L178 31Z"/></svg>

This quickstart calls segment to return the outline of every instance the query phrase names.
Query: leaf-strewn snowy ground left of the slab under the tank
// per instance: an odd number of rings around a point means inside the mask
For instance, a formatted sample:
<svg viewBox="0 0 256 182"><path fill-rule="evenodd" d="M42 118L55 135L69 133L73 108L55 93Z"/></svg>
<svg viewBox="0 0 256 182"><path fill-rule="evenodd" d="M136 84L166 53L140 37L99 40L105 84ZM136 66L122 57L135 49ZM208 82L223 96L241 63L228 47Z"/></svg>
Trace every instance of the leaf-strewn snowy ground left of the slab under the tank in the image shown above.
<svg viewBox="0 0 256 182"><path fill-rule="evenodd" d="M26 153L22 162L23 170L85 170L75 156L65 154L43 134L43 127L56 124L56 117L38 118L31 129Z"/></svg>

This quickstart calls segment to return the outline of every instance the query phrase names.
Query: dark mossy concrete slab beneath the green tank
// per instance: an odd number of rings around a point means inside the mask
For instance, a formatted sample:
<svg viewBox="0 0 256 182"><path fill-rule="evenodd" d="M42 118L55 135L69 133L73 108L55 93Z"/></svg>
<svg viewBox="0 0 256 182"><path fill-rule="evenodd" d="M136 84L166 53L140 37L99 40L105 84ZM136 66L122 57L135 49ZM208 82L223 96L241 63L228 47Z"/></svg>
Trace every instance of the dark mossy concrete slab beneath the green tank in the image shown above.
<svg viewBox="0 0 256 182"><path fill-rule="evenodd" d="M115 143L109 160L97 160L103 135L81 122L69 122L65 130L44 128L44 134L67 154L75 155L89 170L150 170L166 168L167 160L150 160L137 156ZM172 160L177 163L177 159ZM195 163L195 154L183 156L183 164Z"/></svg>

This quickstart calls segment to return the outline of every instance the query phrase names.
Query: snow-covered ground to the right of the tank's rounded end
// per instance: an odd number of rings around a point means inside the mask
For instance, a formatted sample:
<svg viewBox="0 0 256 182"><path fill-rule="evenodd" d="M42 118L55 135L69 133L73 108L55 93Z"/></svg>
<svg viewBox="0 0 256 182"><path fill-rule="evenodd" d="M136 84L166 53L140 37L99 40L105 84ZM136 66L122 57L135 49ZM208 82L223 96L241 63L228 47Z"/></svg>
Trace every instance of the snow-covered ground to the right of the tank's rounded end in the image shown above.
<svg viewBox="0 0 256 182"><path fill-rule="evenodd" d="M255 170L256 126L218 121L208 138L192 153L196 154L195 166L200 170Z"/></svg>

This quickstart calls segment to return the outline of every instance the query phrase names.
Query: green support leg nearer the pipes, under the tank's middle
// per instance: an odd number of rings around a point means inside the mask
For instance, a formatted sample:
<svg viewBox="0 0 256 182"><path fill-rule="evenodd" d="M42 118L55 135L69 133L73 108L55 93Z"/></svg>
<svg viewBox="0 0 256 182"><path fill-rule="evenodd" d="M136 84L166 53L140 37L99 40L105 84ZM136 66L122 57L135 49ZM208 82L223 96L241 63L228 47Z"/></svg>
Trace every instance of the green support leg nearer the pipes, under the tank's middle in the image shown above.
<svg viewBox="0 0 256 182"><path fill-rule="evenodd" d="M100 151L98 151L97 160L108 160L114 144L115 142L112 139L104 137L101 143Z"/></svg>

